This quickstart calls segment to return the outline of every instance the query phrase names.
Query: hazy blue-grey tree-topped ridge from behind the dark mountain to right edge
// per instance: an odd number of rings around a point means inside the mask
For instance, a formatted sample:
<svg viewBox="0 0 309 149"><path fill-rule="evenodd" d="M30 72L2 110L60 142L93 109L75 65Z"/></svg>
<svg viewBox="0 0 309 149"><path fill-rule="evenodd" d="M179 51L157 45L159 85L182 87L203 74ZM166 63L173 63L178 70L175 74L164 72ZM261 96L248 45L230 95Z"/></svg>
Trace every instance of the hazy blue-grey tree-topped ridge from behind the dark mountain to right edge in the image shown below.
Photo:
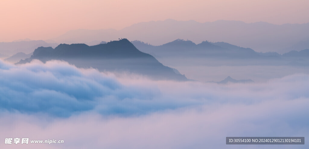
<svg viewBox="0 0 309 149"><path fill-rule="evenodd" d="M168 65L178 65L186 59L197 65L298 65L309 66L309 50L290 51L285 54L277 52L256 52L226 42L203 41L195 44L189 40L175 41L153 46L141 41L132 41L142 52ZM172 59L172 60L171 60Z"/></svg>

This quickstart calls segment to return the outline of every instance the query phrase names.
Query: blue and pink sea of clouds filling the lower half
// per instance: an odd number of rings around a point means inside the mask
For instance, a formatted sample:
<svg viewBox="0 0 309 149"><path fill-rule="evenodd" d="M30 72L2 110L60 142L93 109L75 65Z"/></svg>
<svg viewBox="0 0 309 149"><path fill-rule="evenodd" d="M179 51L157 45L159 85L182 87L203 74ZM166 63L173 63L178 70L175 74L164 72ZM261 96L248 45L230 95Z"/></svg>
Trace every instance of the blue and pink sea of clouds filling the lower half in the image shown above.
<svg viewBox="0 0 309 149"><path fill-rule="evenodd" d="M219 85L0 61L0 148L308 148L308 90L308 74ZM226 145L234 136L305 145ZM16 137L64 144L4 144Z"/></svg>

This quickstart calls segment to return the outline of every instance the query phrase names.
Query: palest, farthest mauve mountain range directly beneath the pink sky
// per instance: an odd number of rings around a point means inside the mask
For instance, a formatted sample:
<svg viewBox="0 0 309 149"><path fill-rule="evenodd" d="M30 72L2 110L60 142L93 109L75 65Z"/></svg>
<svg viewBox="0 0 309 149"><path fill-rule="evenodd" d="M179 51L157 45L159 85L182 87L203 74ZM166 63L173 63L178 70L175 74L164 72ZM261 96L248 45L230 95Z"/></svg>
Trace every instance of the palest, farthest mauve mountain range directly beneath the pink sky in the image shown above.
<svg viewBox="0 0 309 149"><path fill-rule="evenodd" d="M120 37L126 37L131 41L142 40L156 46L178 38L189 39L195 43L207 39L211 42L223 41L248 47L258 52L281 52L282 49L300 41L309 40L309 23L276 25L266 22L244 23L227 20L199 23L194 20L167 19L141 22L121 30L71 30L53 40L58 43L70 41L86 43L93 40L115 40Z"/></svg>

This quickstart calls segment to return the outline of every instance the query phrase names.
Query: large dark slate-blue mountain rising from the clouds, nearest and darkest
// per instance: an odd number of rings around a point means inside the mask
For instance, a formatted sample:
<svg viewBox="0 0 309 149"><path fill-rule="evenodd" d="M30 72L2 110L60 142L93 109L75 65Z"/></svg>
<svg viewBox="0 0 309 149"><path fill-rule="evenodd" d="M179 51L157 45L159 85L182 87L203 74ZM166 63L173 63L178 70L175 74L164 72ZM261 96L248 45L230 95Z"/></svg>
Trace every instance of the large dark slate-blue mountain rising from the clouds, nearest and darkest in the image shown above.
<svg viewBox="0 0 309 149"><path fill-rule="evenodd" d="M17 64L28 63L32 59L46 62L59 59L82 68L97 68L100 71L133 72L154 79L187 80L173 68L161 64L153 56L139 51L127 39L106 44L88 46L86 44L60 44L52 47L39 47L33 55Z"/></svg>

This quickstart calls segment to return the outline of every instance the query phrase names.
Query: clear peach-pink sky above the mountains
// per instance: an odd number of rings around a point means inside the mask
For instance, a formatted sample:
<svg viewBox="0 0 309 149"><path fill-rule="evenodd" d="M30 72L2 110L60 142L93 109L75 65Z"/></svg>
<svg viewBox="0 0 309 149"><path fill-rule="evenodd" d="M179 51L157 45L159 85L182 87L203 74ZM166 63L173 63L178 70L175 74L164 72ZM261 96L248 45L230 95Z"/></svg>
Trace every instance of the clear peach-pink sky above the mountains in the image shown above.
<svg viewBox="0 0 309 149"><path fill-rule="evenodd" d="M73 29L122 29L166 19L309 22L307 0L1 0L0 42L47 40Z"/></svg>

